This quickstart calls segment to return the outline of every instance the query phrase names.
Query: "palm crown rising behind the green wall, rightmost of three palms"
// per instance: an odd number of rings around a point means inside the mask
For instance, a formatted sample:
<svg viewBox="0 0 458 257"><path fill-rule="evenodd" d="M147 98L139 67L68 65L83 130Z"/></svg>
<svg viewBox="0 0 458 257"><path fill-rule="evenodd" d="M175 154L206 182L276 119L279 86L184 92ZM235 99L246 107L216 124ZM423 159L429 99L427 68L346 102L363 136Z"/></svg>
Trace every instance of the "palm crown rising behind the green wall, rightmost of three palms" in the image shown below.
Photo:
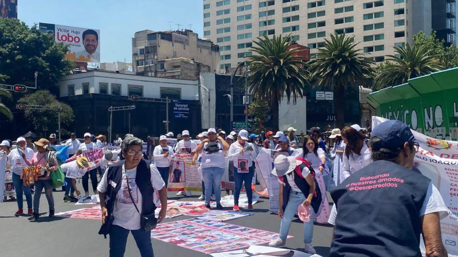
<svg viewBox="0 0 458 257"><path fill-rule="evenodd" d="M394 47L398 56L388 55L390 58L376 76L374 88L379 90L401 85L410 79L443 70L439 55L433 54L433 50L428 49L426 45L415 44L406 44L405 48Z"/></svg>

